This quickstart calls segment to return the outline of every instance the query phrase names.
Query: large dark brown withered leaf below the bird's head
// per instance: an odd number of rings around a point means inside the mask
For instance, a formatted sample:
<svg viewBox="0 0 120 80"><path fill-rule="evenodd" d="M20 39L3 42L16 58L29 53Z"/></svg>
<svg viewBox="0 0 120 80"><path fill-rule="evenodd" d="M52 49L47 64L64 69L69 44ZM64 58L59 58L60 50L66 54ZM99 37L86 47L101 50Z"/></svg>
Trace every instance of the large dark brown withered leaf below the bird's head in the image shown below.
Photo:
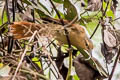
<svg viewBox="0 0 120 80"><path fill-rule="evenodd" d="M97 64L101 72L104 72L104 74L100 73L98 71L98 68L96 68L95 66L92 66L88 60L85 60L84 57L82 57L81 55L78 55L73 60L73 65L75 67L75 71L78 77L80 78L80 80L103 80L107 78L108 74L106 73L104 68L101 66L99 61L94 57L91 57L91 59L95 61L94 64Z"/></svg>

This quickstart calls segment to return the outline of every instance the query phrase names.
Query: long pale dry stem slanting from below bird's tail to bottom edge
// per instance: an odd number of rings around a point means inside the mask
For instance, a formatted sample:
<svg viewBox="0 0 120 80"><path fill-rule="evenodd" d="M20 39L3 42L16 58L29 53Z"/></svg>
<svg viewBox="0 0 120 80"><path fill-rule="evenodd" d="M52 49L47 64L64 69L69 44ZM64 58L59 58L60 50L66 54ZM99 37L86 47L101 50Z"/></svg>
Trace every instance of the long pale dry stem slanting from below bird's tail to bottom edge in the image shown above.
<svg viewBox="0 0 120 80"><path fill-rule="evenodd" d="M34 36L36 35L36 33L37 33L37 31L35 31L35 32L33 33L32 37L31 37L30 40L28 41L28 44L32 41L32 39L34 38ZM14 75L13 75L12 80L15 80L15 77L16 77L16 75L17 75L17 72L18 72L21 64L22 64L22 61L23 61L24 56L25 56L25 54L26 54L26 52L27 52L27 49L28 49L28 47L25 47L25 50L24 50L24 52L23 52L23 54L22 54L22 56L21 56L21 60L20 60L18 66L17 66L17 68L16 68L16 71L15 71L15 73L14 73Z"/></svg>

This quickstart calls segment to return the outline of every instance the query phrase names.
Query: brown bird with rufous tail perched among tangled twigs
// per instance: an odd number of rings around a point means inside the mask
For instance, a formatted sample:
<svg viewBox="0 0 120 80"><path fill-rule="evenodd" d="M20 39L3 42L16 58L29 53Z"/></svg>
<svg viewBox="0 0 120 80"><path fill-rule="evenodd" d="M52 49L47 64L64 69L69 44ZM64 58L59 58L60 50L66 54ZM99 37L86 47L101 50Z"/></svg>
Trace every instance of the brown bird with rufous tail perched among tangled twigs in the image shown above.
<svg viewBox="0 0 120 80"><path fill-rule="evenodd" d="M38 31L41 36L51 36L58 40L60 44L67 44L64 27L53 23L31 23L26 21L14 22L9 25L10 33L15 39L26 39L32 36L34 31ZM88 38L85 29L79 24L72 24L66 28L68 31L71 45L85 50L92 50L93 43Z"/></svg>

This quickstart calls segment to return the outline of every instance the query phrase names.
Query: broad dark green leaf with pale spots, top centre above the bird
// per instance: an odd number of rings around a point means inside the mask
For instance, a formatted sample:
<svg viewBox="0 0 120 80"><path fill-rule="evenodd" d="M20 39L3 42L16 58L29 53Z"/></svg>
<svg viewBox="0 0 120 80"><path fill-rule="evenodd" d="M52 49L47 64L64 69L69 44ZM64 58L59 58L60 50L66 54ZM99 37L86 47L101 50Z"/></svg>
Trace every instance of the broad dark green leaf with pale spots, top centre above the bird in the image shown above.
<svg viewBox="0 0 120 80"><path fill-rule="evenodd" d="M69 21L73 20L75 16L78 15L75 6L69 0L64 0L64 11L65 19Z"/></svg>

